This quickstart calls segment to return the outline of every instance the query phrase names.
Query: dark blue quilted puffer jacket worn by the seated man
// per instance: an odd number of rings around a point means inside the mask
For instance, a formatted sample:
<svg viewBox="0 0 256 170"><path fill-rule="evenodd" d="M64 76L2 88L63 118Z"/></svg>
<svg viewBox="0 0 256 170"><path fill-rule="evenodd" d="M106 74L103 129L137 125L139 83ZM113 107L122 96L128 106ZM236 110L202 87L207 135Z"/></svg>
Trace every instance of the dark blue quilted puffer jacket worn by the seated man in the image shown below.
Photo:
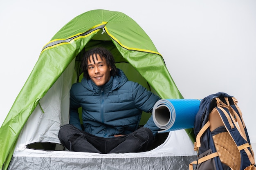
<svg viewBox="0 0 256 170"><path fill-rule="evenodd" d="M103 86L96 86L91 79L83 78L70 90L70 124L81 129L78 108L82 107L85 132L99 137L126 135L135 131L142 110L152 113L160 98L138 83L128 81L124 72L111 76ZM151 116L144 127L155 135L159 130Z"/></svg>

